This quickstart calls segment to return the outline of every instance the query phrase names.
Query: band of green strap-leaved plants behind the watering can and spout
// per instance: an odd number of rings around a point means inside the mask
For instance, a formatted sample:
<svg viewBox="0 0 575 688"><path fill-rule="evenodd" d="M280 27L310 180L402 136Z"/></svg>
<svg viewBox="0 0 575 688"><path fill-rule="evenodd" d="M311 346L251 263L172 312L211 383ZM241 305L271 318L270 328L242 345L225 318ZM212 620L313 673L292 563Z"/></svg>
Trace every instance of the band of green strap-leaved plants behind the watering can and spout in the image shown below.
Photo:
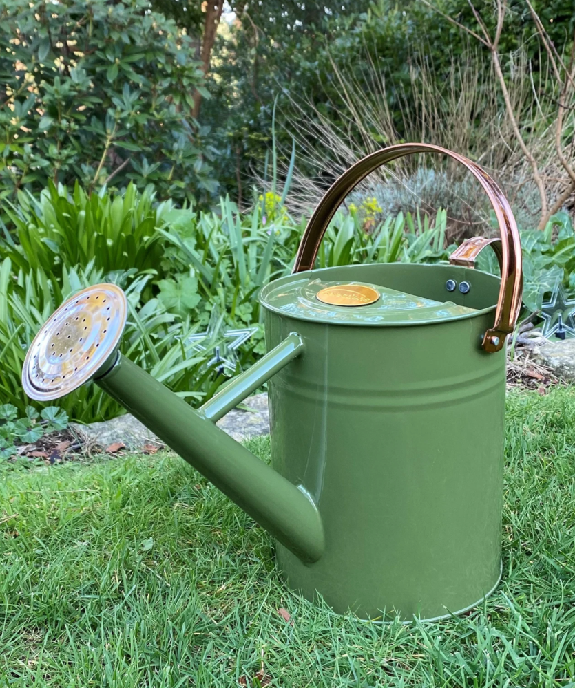
<svg viewBox="0 0 575 688"><path fill-rule="evenodd" d="M305 222L296 222L275 193L255 196L240 213L228 198L220 213L153 207L154 195L107 191L88 195L49 184L39 198L19 193L8 208L14 237L0 241L0 398L23 414L21 367L42 323L70 294L104 280L129 299L121 350L181 396L209 398L225 378L189 336L215 315L222 327L255 325L238 352L240 367L265 351L260 288L291 271ZM366 212L364 212L366 211ZM339 212L318 266L446 259L445 213L383 218L377 204ZM214 337L221 339L218 328ZM211 345L214 343L211 342ZM59 401L73 420L112 418L123 409L94 385Z"/></svg>

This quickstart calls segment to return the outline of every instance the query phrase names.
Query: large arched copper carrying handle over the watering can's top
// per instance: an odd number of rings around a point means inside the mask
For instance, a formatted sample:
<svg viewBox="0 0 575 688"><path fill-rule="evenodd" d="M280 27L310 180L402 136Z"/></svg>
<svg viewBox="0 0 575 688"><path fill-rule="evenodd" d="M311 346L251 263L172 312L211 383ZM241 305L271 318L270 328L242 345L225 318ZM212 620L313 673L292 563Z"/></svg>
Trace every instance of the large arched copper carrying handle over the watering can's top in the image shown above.
<svg viewBox="0 0 575 688"><path fill-rule="evenodd" d="M499 186L481 167L459 153L453 153L439 146L427 143L404 143L390 146L367 155L350 169L345 171L326 191L315 208L306 226L304 236L297 250L293 272L311 270L315 263L317 251L331 222L333 215L342 201L362 179L379 166L403 158L411 153L443 153L457 160L468 169L479 181L487 193L501 233L501 288L495 311L495 323L492 329L483 336L483 349L488 352L499 351L505 344L505 337L513 331L521 308L523 277L521 273L521 241L519 231L508 200Z"/></svg>

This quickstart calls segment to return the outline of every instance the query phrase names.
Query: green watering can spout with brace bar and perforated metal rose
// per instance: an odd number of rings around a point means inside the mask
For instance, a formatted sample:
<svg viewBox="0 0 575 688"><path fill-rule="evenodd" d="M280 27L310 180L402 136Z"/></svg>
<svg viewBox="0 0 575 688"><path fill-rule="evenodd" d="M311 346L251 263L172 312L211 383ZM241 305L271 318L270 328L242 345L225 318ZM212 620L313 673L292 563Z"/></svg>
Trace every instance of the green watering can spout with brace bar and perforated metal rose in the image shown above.
<svg viewBox="0 0 575 688"><path fill-rule="evenodd" d="M289 335L195 411L117 351L125 317L125 295L114 285L88 288L64 303L36 335L26 357L23 387L28 396L59 398L93 379L302 561L320 559L324 532L310 495L215 424L300 355L301 339Z"/></svg>

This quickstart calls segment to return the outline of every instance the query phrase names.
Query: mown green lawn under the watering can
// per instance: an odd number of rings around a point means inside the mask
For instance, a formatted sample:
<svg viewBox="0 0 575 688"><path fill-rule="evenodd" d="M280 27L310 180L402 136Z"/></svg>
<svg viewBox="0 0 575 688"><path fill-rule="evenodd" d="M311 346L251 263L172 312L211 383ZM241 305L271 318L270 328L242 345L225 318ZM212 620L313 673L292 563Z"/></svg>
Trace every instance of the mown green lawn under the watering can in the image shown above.
<svg viewBox="0 0 575 688"><path fill-rule="evenodd" d="M0 686L574 687L575 392L511 394L506 451L503 583L410 625L288 592L266 533L169 453L3 464Z"/></svg>

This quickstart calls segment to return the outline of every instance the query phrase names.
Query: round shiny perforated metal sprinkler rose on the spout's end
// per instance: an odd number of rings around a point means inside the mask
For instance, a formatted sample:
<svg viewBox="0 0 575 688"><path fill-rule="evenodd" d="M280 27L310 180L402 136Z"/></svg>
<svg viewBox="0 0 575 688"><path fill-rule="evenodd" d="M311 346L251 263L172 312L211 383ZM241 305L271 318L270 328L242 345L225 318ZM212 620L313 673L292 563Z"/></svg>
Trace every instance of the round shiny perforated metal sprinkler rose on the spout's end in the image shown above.
<svg viewBox="0 0 575 688"><path fill-rule="evenodd" d="M115 284L96 284L67 299L34 337L22 369L36 401L69 394L92 379L116 352L127 299Z"/></svg>

